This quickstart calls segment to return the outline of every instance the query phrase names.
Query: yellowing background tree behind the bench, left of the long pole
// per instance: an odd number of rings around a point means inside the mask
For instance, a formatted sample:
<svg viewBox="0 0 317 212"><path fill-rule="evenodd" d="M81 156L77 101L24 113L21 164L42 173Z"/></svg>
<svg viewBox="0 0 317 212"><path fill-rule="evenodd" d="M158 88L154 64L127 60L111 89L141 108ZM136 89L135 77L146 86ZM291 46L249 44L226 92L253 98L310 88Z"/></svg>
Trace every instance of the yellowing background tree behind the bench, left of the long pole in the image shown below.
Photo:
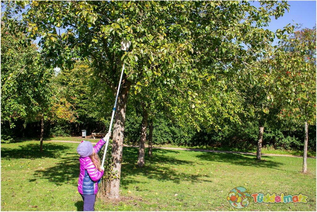
<svg viewBox="0 0 317 212"><path fill-rule="evenodd" d="M87 133L106 132L110 123L113 93L98 76L89 63L77 61L73 69L61 70L56 78L57 98L65 99L71 105L76 116L71 130L81 133L83 127ZM67 123L59 123L68 126Z"/></svg>

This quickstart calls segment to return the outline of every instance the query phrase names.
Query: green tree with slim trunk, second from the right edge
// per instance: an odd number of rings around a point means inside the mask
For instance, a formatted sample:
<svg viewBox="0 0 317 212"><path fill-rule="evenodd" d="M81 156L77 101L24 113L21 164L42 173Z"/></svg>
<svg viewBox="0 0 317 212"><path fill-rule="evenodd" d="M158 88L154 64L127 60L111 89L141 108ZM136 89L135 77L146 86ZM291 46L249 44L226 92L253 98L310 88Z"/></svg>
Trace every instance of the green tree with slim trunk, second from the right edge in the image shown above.
<svg viewBox="0 0 317 212"><path fill-rule="evenodd" d="M294 26L288 25L283 30L277 30L275 36L281 41L287 40L288 37L284 33L292 32L293 28ZM247 108L247 113L243 114L243 117L256 119L258 122L258 160L261 160L264 126L267 122L271 125L275 124L281 108L290 103L286 101L290 97L287 91L294 86L285 77L285 69L289 68L285 66L289 55L279 45L273 46L272 41L264 42L266 47L263 48L263 52L250 57L249 65L238 76L238 79L242 79L238 90L242 91L240 95L244 97L245 108Z"/></svg>

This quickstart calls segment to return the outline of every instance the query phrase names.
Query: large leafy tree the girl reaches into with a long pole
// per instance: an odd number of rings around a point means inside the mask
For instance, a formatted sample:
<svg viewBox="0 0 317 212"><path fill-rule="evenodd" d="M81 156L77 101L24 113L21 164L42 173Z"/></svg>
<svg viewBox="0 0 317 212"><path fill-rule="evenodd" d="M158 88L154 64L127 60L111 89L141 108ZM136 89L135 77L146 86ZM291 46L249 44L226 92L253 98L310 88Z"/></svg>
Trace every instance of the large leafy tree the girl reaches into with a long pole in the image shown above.
<svg viewBox="0 0 317 212"><path fill-rule="evenodd" d="M215 92L209 88L211 93L217 93L211 99L217 101L211 104L221 106L227 118L237 119L230 112L234 104L220 104L220 91L227 90L226 80L241 68L251 51L262 53L263 42L259 41L274 38L274 33L261 28L269 22L269 17L280 17L288 8L285 1L261 2L261 8L237 1L27 1L18 4L26 6L23 22L28 26L28 35L41 38L39 45L46 65L64 69L78 59L87 60L94 67L95 75L113 93L122 63L126 65L113 131L113 169L118 177L110 182L110 198L119 198L128 93L142 92L143 86L152 84L174 87L186 98L173 99L169 110L184 124L185 115L191 114L187 122L197 127L196 120L217 125L211 114L219 109L205 104L209 102L207 92L201 94L204 101L197 98L198 91L207 90L204 85L213 83L218 89ZM123 38L132 42L128 52L120 51ZM243 44L249 44L252 49L246 51ZM222 95L226 99L233 93L230 89ZM194 102L187 104L188 101ZM178 103L183 107L177 106Z"/></svg>

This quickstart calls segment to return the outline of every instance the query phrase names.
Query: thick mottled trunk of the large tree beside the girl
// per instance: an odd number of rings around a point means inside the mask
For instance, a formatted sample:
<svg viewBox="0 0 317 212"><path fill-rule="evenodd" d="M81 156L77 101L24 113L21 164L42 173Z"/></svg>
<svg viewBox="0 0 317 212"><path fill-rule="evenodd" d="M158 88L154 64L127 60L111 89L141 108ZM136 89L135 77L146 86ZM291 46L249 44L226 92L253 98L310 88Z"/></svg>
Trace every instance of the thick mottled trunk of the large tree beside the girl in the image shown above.
<svg viewBox="0 0 317 212"><path fill-rule="evenodd" d="M126 120L126 103L128 100L128 92L131 83L126 79L122 80L121 91L118 96L117 111L115 114L115 123L113 127L113 143L112 143L112 161L113 171L116 173L117 178L109 183L108 197L110 199L118 199L120 176L121 176L121 161L124 139L124 125Z"/></svg>

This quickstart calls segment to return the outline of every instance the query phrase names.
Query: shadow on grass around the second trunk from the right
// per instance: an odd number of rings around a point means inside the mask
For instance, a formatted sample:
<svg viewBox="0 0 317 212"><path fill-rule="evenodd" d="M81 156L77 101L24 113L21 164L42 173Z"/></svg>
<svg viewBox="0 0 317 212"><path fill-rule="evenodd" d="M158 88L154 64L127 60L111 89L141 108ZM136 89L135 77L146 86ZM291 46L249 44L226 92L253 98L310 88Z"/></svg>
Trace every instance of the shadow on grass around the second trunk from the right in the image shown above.
<svg viewBox="0 0 317 212"><path fill-rule="evenodd" d="M202 161L226 162L238 166L252 166L254 168L278 169L278 167L284 165L281 162L271 161L269 157L262 156L262 160L259 161L256 159L256 156L244 154L201 152L196 157Z"/></svg>

